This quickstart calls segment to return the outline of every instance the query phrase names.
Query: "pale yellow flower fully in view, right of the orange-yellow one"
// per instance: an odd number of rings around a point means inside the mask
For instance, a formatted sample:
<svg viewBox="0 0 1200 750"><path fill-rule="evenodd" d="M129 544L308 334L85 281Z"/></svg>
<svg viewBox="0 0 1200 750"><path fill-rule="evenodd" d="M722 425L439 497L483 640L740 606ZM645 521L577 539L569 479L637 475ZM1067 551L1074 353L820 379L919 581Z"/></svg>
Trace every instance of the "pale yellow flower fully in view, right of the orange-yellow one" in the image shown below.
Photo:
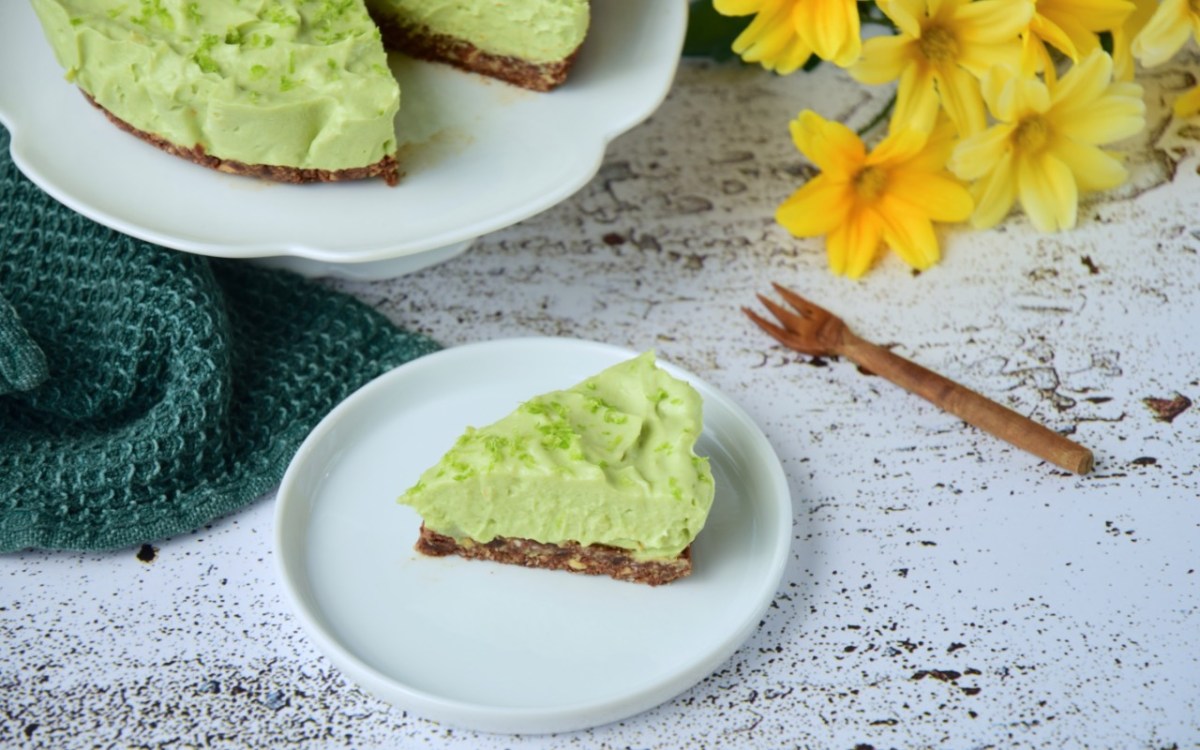
<svg viewBox="0 0 1200 750"><path fill-rule="evenodd" d="M1080 191L1124 181L1124 167L1099 146L1145 126L1141 86L1112 83L1103 52L1052 83L997 68L984 80L984 98L997 124L961 140L953 172L973 185L976 227L992 227L1018 199L1042 232L1075 226Z"/></svg>

